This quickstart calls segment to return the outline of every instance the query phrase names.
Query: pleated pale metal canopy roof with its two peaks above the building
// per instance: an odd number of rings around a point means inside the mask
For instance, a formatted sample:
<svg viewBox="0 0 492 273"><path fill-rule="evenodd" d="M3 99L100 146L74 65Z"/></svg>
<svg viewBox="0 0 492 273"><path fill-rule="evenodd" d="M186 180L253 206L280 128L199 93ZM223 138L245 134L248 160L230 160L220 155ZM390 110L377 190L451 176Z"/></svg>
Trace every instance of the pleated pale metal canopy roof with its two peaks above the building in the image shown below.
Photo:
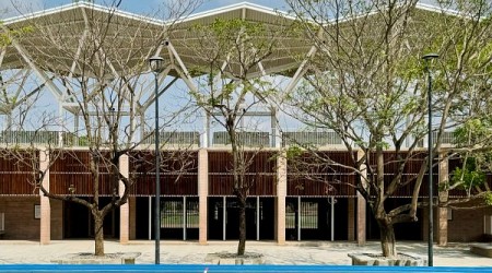
<svg viewBox="0 0 492 273"><path fill-rule="evenodd" d="M113 66L104 71L108 78L115 73L118 75L141 73L148 70L148 58L155 54L163 40L168 40L183 63L199 74L196 68L207 63L203 59L207 52L201 56L194 52L191 45L197 39L192 29L195 25L207 25L216 19L257 22L265 24L270 32L288 27L294 20L285 13L247 2L197 13L174 22L150 19L93 3L75 2L5 20L3 31L9 28L15 32L23 27L27 27L28 31L19 35L13 34L15 43L4 47L1 69L22 69L28 67L28 61L32 61L40 70L55 74L103 73L95 71L101 66L94 66L94 71L91 71L91 66L82 68L73 61L77 58L84 63L103 61L101 56L98 59L95 56L86 56L99 47L106 61ZM105 39L94 40L94 37L103 37L102 32L105 32ZM98 44L95 45L95 41ZM305 55L311 46L298 37L282 37L282 46L277 47L262 61L263 73L294 70L300 63L298 56ZM173 60L168 50L164 49L160 55L166 60ZM231 66L231 69L237 69L237 66ZM250 70L251 76L258 73L259 68Z"/></svg>

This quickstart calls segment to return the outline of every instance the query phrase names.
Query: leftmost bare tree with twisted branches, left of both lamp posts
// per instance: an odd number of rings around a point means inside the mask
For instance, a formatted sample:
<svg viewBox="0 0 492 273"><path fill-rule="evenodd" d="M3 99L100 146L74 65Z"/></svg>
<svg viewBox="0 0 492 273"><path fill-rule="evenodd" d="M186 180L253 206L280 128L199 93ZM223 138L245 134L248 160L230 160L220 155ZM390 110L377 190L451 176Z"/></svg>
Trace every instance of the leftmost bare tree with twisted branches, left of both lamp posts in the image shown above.
<svg viewBox="0 0 492 273"><path fill-rule="evenodd" d="M173 26L173 22L164 24L149 17L121 15L117 11L120 2L113 2L109 8L74 5L74 9L60 10L55 15L26 16L25 21L3 26L3 29L10 33L9 46L4 50L11 50L8 52L12 52L12 58L17 58L20 63L25 63L34 71L44 82L39 88L47 85L59 100L60 109L62 107L73 115L73 119L67 120L52 114L52 105L48 105L44 110L28 111L31 104L40 102L35 99L34 90L25 96L30 99L19 104L26 107L17 108L20 116L31 115L30 119L34 122L26 124L26 119L23 118L17 123L12 122L8 130L31 130L31 136L44 138L45 147L39 147L36 141L21 147L19 139L7 138L2 156L16 158L19 164L31 166L31 182L44 195L74 202L90 210L94 219L96 256L104 254L105 216L127 202L131 187L138 181L137 173L126 176L121 171L121 156L136 155L131 161L137 169L153 164L145 159L148 156L142 155L144 152L134 152L153 135L153 132L148 130L145 110L154 99L159 99L149 95L152 94L149 91L153 92L153 84L143 72L149 70L147 60L159 51L168 28ZM197 2L176 2L175 10L166 10L169 12L167 15L176 20L189 12ZM30 32L12 35L15 29L26 24ZM9 95L4 98L8 105ZM157 117L166 120L163 127L176 122L181 109L176 111L166 117ZM79 122L82 123L81 128ZM66 133L70 126L75 127L74 132ZM55 135L50 133L54 129L58 130ZM20 134L17 132L14 136ZM78 157L71 145L85 146L89 161ZM92 183L89 188L92 192L89 200L78 197L73 187L68 189L67 194L57 194L43 183L49 167L65 156L73 157L91 174ZM176 151L167 154L169 162L164 162L159 167L174 173L189 168L190 161L178 156L186 156L186 153ZM43 163L46 158L48 161ZM156 166L153 167L154 170ZM109 181L103 179L104 175L107 175ZM120 183L122 190L119 190ZM109 187L110 191L110 201L107 204L101 201L101 197L107 194L103 190L105 187Z"/></svg>

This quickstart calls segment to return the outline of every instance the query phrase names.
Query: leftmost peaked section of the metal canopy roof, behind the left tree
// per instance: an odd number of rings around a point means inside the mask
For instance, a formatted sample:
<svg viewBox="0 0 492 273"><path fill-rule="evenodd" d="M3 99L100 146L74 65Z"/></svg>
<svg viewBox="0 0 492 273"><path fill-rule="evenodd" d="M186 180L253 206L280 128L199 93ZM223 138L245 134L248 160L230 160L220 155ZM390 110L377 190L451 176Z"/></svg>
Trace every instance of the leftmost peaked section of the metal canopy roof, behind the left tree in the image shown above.
<svg viewBox="0 0 492 273"><path fill-rule="evenodd" d="M109 19L110 23L107 24ZM2 27L14 32L13 43L4 48L2 69L22 69L30 67L32 61L40 70L55 74L94 74L97 71L91 71L91 66L80 67L73 60L83 60L85 63L104 61L101 56L98 60L94 55L87 56L99 47L114 70L125 75L140 70L151 48L155 48L155 37L163 33L165 23L77 2L7 20ZM19 29L24 31L15 34ZM94 39L101 37L105 37L104 40ZM138 49L134 43L140 45Z"/></svg>

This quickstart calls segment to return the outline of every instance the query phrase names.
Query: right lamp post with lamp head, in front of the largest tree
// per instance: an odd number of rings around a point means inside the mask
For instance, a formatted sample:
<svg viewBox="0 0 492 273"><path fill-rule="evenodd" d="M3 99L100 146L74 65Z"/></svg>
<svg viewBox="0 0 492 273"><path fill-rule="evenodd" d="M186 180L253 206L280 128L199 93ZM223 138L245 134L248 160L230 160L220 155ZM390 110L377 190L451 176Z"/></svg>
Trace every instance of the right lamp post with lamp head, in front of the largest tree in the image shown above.
<svg viewBox="0 0 492 273"><path fill-rule="evenodd" d="M427 73L427 110L429 110L429 122L427 122L427 150L429 150L429 248L427 248L427 260L429 260L429 266L434 265L434 250L433 250L433 244L434 244L434 213L433 213L433 190L432 190L432 162L434 156L432 155L432 75L431 70L429 68L429 62L432 59L437 59L440 56L437 54L426 54L422 57L425 64L425 72Z"/></svg>

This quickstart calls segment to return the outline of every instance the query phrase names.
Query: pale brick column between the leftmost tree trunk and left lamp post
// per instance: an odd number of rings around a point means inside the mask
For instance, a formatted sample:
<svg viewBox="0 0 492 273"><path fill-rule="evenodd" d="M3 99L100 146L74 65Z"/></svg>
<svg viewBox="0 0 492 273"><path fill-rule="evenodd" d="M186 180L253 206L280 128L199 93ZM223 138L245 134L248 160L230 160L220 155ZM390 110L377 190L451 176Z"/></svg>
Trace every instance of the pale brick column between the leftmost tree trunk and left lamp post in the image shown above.
<svg viewBox="0 0 492 273"><path fill-rule="evenodd" d="M122 176L128 178L128 155L121 155L119 157L119 171ZM118 187L118 194L121 197L125 192L125 186L120 181ZM127 203L119 207L119 242L128 244L130 239L130 199L127 199Z"/></svg>

